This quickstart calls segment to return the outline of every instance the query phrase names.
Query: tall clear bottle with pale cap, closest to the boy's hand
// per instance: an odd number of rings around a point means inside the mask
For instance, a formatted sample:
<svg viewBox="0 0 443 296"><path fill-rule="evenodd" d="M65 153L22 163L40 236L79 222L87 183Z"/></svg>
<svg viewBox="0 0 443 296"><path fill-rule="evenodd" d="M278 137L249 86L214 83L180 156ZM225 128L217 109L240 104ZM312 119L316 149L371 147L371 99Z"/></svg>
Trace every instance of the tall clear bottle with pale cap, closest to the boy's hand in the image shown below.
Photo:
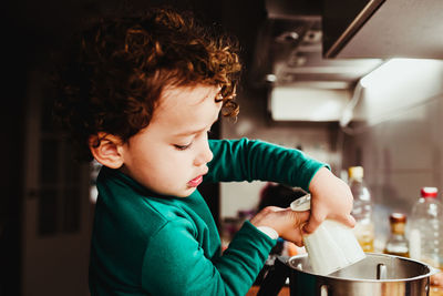
<svg viewBox="0 0 443 296"><path fill-rule="evenodd" d="M371 194L363 182L363 167L348 169L349 186L353 195L352 215L357 221L353 232L364 252L374 251L374 224Z"/></svg>

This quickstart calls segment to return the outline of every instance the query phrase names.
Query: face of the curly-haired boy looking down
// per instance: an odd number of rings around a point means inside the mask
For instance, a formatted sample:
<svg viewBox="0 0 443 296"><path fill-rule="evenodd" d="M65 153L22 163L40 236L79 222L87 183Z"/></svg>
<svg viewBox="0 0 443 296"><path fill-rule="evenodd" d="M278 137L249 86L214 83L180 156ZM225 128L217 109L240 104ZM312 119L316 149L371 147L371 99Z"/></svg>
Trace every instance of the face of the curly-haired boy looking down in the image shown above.
<svg viewBox="0 0 443 296"><path fill-rule="evenodd" d="M123 145L122 171L147 188L190 195L213 159L207 133L222 108L219 88L166 89L147 127Z"/></svg>

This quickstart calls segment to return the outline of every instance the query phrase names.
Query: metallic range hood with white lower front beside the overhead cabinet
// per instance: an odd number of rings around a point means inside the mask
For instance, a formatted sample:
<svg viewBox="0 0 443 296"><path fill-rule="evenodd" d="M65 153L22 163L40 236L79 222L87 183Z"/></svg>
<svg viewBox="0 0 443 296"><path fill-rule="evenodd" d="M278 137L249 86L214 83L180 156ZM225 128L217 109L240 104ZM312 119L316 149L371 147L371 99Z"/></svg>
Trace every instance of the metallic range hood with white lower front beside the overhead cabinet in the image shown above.
<svg viewBox="0 0 443 296"><path fill-rule="evenodd" d="M267 0L250 79L268 88L274 121L338 122L360 78L381 59L326 59L322 1Z"/></svg>

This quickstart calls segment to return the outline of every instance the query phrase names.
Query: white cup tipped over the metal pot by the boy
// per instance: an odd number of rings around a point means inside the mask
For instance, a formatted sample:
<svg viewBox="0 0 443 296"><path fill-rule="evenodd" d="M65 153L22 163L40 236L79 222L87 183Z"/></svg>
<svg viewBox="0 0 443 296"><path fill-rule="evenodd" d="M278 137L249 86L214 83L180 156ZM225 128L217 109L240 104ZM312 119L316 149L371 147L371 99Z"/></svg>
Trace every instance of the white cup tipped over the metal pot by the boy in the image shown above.
<svg viewBox="0 0 443 296"><path fill-rule="evenodd" d="M311 195L307 194L290 205L292 211L310 210ZM328 275L365 257L352 228L332 220L323 221L318 228L303 236L312 271Z"/></svg>

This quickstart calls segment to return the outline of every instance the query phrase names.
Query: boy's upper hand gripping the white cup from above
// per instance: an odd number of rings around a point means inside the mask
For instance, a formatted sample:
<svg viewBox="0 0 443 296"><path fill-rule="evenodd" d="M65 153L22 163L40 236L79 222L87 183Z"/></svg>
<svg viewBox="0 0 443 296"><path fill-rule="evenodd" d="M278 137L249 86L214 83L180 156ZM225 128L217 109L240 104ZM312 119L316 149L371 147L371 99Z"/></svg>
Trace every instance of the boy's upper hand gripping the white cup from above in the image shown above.
<svg viewBox="0 0 443 296"><path fill-rule="evenodd" d="M320 169L313 176L309 191L311 193L311 215L303 231L312 233L326 218L353 227L356 220L351 216L352 193L348 184L334 176L327 167Z"/></svg>

